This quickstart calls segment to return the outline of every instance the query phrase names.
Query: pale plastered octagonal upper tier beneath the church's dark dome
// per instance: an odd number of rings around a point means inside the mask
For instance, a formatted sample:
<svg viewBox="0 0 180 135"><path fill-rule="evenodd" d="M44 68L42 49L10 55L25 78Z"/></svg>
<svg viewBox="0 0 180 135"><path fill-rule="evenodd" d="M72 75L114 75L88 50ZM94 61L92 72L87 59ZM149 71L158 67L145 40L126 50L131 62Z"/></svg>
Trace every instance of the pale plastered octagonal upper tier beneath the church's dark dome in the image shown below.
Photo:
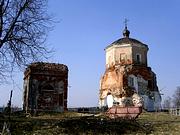
<svg viewBox="0 0 180 135"><path fill-rule="evenodd" d="M137 63L137 54L140 54L141 65L147 66L147 51L148 47L141 44L113 45L106 49L106 68Z"/></svg>

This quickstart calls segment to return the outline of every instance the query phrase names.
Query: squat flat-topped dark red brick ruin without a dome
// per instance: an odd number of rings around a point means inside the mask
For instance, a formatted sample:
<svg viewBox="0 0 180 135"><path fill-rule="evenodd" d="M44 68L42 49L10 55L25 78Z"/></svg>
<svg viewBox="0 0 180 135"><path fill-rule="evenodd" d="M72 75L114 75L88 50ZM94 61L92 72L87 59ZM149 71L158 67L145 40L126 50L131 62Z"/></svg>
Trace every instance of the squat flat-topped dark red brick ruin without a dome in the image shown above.
<svg viewBox="0 0 180 135"><path fill-rule="evenodd" d="M29 113L67 110L67 87L66 65L32 63L24 72L23 109Z"/></svg>

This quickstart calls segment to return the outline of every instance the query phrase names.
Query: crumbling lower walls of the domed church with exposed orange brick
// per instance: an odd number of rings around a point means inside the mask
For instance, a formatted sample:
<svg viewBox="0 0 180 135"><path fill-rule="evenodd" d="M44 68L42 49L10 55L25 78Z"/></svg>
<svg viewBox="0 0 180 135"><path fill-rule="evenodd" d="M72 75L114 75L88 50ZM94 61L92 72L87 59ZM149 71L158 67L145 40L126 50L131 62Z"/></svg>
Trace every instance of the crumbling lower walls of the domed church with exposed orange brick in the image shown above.
<svg viewBox="0 0 180 135"><path fill-rule="evenodd" d="M110 92L115 99L118 100L118 96L122 94L125 97L132 96L132 93L128 93L125 88L131 87L138 94L145 95L144 104L150 106L150 100L155 95L154 91L158 92L155 74L149 67L145 66L114 66L106 69L104 76L100 80L100 106L105 105L107 93ZM133 86L130 84L129 78L133 78ZM157 102L158 104L159 102ZM148 105L149 104L149 105ZM153 102L154 105L154 102ZM157 105L159 106L159 104ZM147 108L148 108L147 107Z"/></svg>

